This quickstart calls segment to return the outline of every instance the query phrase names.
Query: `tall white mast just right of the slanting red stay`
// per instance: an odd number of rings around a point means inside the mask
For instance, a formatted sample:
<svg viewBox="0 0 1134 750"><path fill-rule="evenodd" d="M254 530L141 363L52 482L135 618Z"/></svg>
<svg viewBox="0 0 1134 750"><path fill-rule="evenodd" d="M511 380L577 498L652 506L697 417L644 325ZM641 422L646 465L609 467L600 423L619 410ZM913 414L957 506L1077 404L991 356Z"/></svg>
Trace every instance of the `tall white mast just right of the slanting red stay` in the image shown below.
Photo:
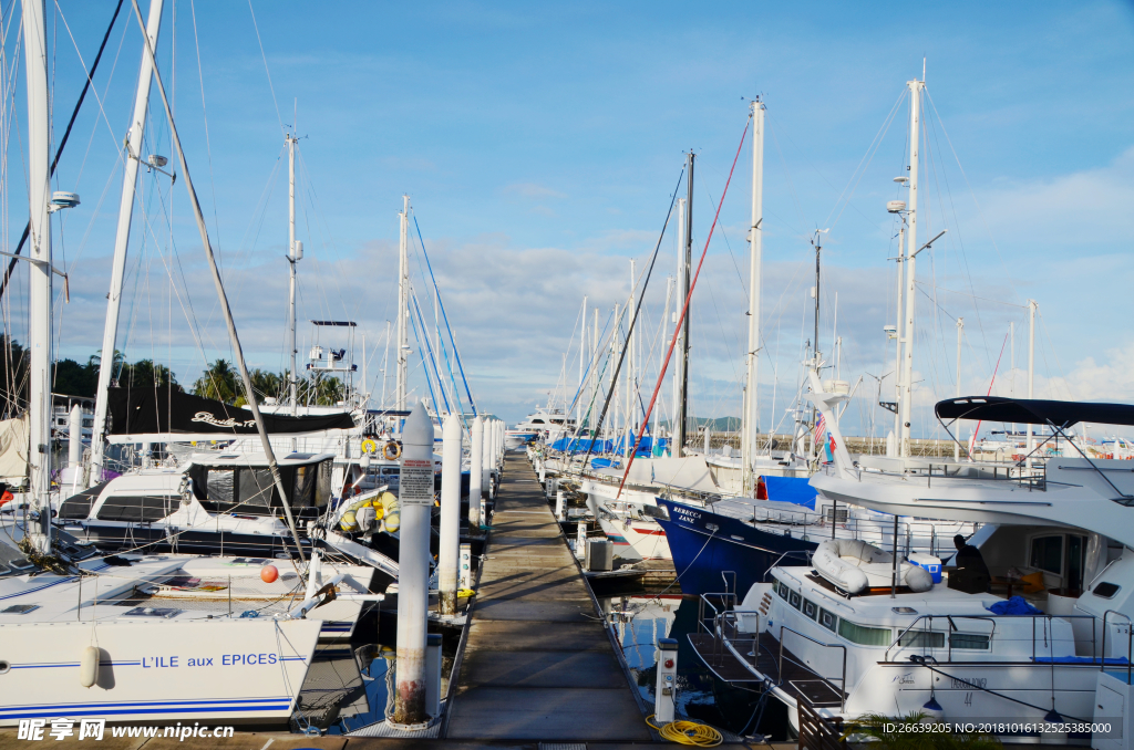
<svg viewBox="0 0 1134 750"><path fill-rule="evenodd" d="M758 367L760 359L760 273L763 263L764 216L764 103L752 102L752 227L748 230L748 353L747 380L744 385L744 415L741 419L742 494L752 496L755 488L753 467L756 458L756 429L760 425Z"/></svg>

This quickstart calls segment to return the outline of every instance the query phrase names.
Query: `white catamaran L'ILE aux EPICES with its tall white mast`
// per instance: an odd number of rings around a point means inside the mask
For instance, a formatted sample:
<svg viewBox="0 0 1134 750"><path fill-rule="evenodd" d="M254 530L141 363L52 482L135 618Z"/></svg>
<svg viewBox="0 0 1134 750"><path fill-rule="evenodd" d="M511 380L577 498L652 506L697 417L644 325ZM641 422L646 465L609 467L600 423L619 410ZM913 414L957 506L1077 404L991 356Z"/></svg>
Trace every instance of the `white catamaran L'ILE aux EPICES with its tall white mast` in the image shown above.
<svg viewBox="0 0 1134 750"><path fill-rule="evenodd" d="M143 59L151 66L161 9L161 0L151 3L149 29L141 15L137 18L146 35ZM32 445L45 448L51 415L53 269L42 2L24 3L23 31L32 228L28 421ZM167 117L181 155L168 104ZM181 165L192 196L184 155ZM200 206L193 203L200 219ZM202 233L208 248L208 235ZM219 291L235 334L223 288ZM234 344L239 352L235 335ZM327 600L328 591L344 579L335 577L328 581L330 589L310 591L296 608L277 616L243 617L138 604L136 591L167 579L184 560L100 559L59 535L50 523L48 455L46 450L32 452L27 503L19 521L6 526L9 532L22 532L10 538L24 554L8 543L0 546L0 602L5 604L0 611L0 724L60 716L286 722L322 629L320 620L304 615ZM315 568L313 573L318 573ZM308 577L308 589L319 580Z"/></svg>

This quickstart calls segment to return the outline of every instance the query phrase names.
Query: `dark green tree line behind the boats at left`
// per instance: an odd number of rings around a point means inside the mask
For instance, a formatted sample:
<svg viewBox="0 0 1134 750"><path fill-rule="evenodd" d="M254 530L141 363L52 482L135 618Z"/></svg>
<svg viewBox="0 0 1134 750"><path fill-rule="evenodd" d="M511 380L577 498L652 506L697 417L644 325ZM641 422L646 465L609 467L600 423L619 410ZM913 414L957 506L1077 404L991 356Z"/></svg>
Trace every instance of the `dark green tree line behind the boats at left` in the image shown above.
<svg viewBox="0 0 1134 750"><path fill-rule="evenodd" d="M18 414L27 408L27 366L28 351L16 339L0 334L0 399L3 401L5 416ZM52 368L51 391L67 395L94 398L99 386L99 367L101 357L95 353L87 357L86 363L75 359L58 359ZM115 375L111 386L118 387L155 387L170 386L184 392L185 386L177 382L177 376L169 367L152 359L126 361L122 352L115 351ZM257 403L272 398L282 402L288 398L288 372L273 373L255 368L248 373L252 380L252 391ZM214 399L244 406L247 403L240 375L236 367L226 359L217 359L193 382L189 392L206 399ZM346 398L346 384L338 377L327 377L323 373L314 373L301 377L298 382L298 401L304 404L333 406Z"/></svg>

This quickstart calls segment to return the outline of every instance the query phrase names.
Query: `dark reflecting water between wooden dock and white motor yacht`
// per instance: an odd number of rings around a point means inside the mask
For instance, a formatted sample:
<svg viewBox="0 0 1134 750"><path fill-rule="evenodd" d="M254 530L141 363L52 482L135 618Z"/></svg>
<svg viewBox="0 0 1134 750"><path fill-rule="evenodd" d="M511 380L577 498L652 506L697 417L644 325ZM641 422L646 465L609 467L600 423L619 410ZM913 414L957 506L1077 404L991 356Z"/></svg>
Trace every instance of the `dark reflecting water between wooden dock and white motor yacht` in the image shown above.
<svg viewBox="0 0 1134 750"><path fill-rule="evenodd" d="M765 701L756 723L760 694L718 680L697 658L686 636L696 631L697 598L680 595L633 594L600 597L610 627L623 646L638 691L653 702L659 638L677 640L677 715L736 734L763 734L784 740L787 708L773 698ZM753 726L753 724L756 724Z"/></svg>

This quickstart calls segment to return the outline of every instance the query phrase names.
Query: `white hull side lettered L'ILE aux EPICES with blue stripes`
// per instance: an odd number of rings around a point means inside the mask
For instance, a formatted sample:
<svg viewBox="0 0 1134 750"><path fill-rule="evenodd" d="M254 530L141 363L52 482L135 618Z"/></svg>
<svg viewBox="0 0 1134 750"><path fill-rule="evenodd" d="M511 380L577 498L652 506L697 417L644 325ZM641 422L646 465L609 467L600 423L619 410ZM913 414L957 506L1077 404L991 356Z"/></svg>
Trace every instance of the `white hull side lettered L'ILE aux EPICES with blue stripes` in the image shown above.
<svg viewBox="0 0 1134 750"><path fill-rule="evenodd" d="M0 625L0 726L24 718L284 724L295 708L318 620L139 617ZM81 682L87 647L98 681ZM76 724L76 735L78 725Z"/></svg>

